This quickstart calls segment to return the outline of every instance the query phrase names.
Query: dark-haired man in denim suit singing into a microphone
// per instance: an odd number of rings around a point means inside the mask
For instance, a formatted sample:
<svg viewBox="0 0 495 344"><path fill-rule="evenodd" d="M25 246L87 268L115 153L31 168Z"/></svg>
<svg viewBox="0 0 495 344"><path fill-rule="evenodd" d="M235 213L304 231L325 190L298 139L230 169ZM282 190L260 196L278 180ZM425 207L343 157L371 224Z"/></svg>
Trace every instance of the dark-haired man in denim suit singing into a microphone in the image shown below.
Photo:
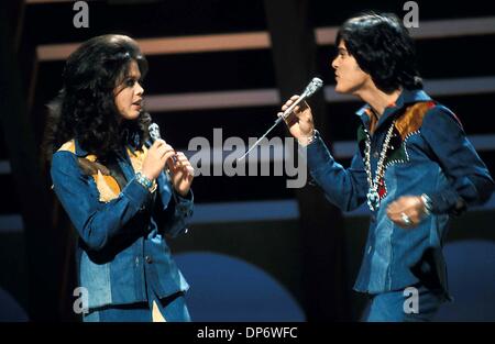
<svg viewBox="0 0 495 344"><path fill-rule="evenodd" d="M421 90L414 42L396 15L351 18L336 45L336 91L366 103L351 166L333 159L307 103L286 123L327 198L345 211L365 201L371 210L354 286L371 297L366 320L431 320L450 299L442 255L449 219L485 202L493 179L457 116ZM409 304L410 296L418 302Z"/></svg>

